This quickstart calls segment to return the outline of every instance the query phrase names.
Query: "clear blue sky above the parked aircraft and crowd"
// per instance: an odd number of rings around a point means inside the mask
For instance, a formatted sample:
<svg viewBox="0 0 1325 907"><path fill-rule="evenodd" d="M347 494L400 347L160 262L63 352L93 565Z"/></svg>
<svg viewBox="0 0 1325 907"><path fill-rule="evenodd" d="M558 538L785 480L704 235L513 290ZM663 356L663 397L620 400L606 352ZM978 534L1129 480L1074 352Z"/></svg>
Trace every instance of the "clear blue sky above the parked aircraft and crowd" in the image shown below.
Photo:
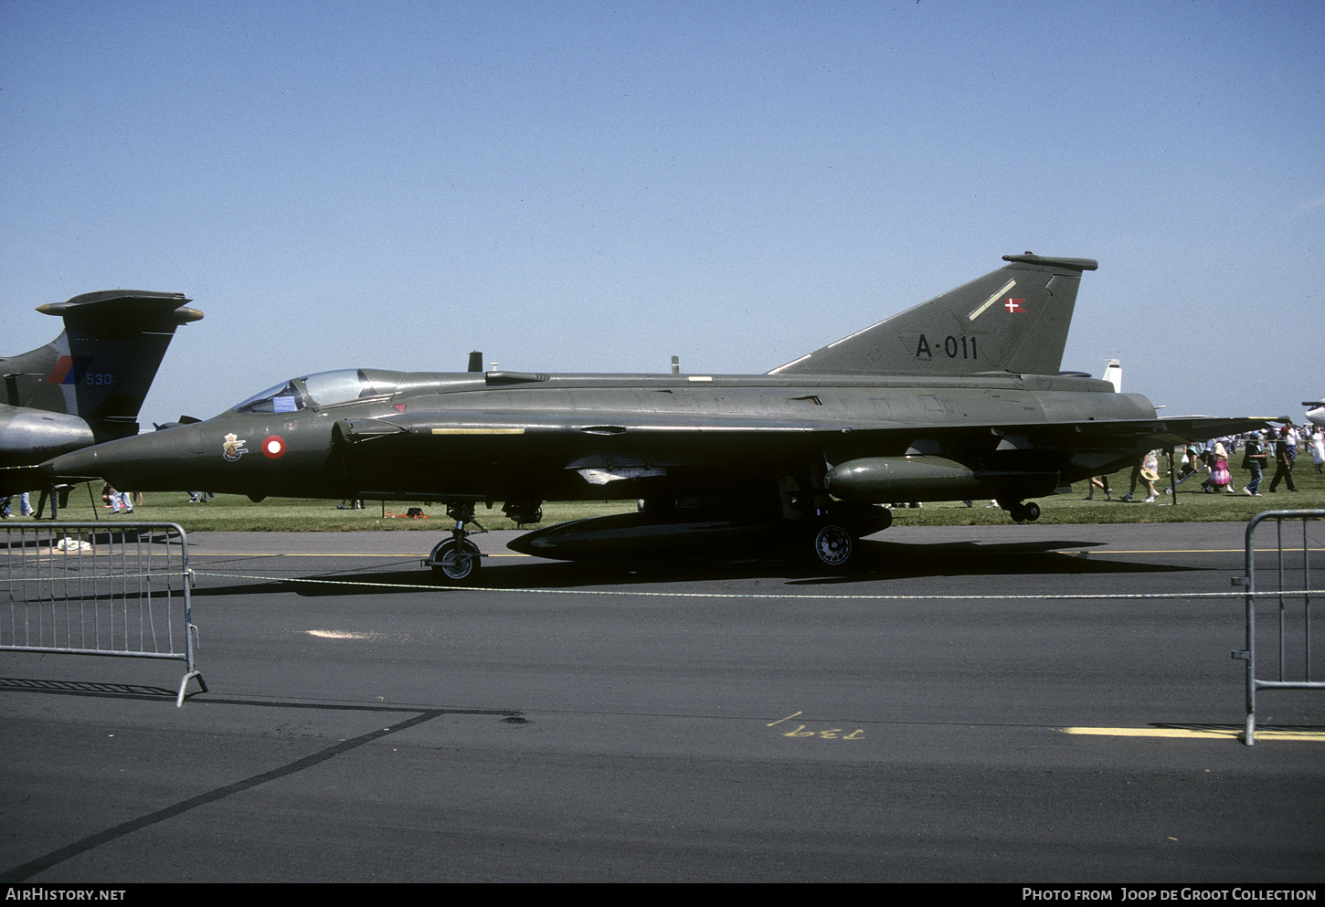
<svg viewBox="0 0 1325 907"><path fill-rule="evenodd" d="M143 420L370 365L763 372L1034 250L1064 368L1325 393L1325 4L0 5L0 328L179 291Z"/></svg>

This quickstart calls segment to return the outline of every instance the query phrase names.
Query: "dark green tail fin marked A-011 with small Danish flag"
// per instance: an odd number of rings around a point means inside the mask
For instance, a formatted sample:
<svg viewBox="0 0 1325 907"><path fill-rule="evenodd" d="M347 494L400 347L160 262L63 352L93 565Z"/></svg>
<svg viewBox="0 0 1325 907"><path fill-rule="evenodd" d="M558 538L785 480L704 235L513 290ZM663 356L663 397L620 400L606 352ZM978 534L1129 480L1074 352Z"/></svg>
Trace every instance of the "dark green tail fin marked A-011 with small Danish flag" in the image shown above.
<svg viewBox="0 0 1325 907"><path fill-rule="evenodd" d="M780 365L770 375L1056 375L1090 258L1011 262Z"/></svg>

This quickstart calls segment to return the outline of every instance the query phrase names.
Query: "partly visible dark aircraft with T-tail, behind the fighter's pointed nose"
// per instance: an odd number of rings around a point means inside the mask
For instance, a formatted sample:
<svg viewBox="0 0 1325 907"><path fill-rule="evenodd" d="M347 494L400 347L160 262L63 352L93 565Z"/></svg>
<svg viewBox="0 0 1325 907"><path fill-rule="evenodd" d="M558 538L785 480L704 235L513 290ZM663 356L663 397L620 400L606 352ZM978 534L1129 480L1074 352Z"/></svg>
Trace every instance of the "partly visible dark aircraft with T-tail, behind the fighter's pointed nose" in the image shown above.
<svg viewBox="0 0 1325 907"><path fill-rule="evenodd" d="M138 433L138 409L175 328L203 312L179 293L106 290L38 306L64 318L54 340L0 359L0 494L46 485L37 463Z"/></svg>

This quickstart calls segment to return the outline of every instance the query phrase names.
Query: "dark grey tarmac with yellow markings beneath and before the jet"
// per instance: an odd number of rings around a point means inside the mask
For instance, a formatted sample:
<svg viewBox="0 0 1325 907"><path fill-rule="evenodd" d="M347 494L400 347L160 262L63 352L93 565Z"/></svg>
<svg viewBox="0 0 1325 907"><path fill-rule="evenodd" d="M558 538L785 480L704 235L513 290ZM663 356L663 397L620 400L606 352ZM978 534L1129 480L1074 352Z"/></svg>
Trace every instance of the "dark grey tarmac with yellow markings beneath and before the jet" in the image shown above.
<svg viewBox="0 0 1325 907"><path fill-rule="evenodd" d="M482 589L431 534L197 534L208 692L0 653L0 877L1320 882L1325 699L1244 747L1242 600L1097 597L1228 593L1242 530L897 526L847 576L493 532Z"/></svg>

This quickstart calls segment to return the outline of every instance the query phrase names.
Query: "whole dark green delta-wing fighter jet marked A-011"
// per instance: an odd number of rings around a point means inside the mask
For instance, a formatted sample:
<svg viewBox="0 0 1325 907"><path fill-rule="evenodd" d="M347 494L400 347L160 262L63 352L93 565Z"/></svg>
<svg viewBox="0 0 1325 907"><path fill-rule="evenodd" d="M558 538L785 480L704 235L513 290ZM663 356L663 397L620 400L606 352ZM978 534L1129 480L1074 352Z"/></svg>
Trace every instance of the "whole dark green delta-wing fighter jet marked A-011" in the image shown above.
<svg viewBox="0 0 1325 907"><path fill-rule="evenodd" d="M511 547L578 559L723 553L790 539L824 565L890 522L878 504L1028 498L1145 450L1265 420L1155 418L1140 395L1060 373L1086 258L1008 265L766 375L344 369L297 377L216 418L42 465L134 490L437 501L456 520L429 564L472 580L478 503L537 522L543 501L640 499ZM477 524L476 524L477 526Z"/></svg>

